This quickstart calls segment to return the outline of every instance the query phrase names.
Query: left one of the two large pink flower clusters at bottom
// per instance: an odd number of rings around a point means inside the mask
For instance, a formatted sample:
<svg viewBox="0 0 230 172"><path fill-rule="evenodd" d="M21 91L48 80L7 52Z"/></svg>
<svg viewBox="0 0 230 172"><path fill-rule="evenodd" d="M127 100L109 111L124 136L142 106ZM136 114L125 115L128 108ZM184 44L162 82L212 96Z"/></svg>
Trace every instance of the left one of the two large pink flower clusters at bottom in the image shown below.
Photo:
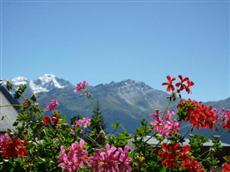
<svg viewBox="0 0 230 172"><path fill-rule="evenodd" d="M84 167L84 164L88 164L88 152L84 150L85 142L72 143L68 149L61 146L58 156L58 167L64 171L73 172Z"/></svg>

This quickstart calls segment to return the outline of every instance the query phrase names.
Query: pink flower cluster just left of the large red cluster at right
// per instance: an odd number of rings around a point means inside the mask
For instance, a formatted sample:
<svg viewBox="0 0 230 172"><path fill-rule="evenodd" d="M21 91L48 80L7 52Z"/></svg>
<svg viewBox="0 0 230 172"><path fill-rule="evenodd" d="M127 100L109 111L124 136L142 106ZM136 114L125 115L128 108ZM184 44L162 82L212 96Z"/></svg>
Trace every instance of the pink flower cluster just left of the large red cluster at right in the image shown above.
<svg viewBox="0 0 230 172"><path fill-rule="evenodd" d="M150 124L153 126L153 130L161 134L163 137L168 137L171 134L176 134L180 130L180 122L176 119L172 119L175 115L173 111L167 111L165 120L162 119L160 115L163 115L162 112L156 110L153 117L153 121Z"/></svg>

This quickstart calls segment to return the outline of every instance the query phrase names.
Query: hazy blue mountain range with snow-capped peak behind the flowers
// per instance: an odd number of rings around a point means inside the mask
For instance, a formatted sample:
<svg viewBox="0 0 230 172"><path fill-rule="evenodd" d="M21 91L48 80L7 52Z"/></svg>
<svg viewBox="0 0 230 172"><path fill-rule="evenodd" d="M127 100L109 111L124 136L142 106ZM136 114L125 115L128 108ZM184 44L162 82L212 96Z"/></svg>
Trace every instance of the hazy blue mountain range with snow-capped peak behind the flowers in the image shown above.
<svg viewBox="0 0 230 172"><path fill-rule="evenodd" d="M42 106L53 98L58 99L60 101L58 109L66 115L68 120L78 114L91 116L93 105L99 102L109 131L113 122L120 122L122 128L134 132L142 118L150 120L149 114L155 109L164 109L169 96L166 92L154 89L144 82L131 79L89 86L88 89L93 95L91 100L74 93L75 85L53 74L44 74L33 81L26 77L16 77L12 79L12 82L15 86L26 84L28 87L26 94L35 93ZM230 109L230 98L216 102L210 101L206 104L215 108ZM173 107L175 104L171 106ZM206 135L210 133L207 130L202 132ZM218 131L217 134L223 134L220 132L223 131ZM225 141L229 140L225 133L223 137Z"/></svg>

